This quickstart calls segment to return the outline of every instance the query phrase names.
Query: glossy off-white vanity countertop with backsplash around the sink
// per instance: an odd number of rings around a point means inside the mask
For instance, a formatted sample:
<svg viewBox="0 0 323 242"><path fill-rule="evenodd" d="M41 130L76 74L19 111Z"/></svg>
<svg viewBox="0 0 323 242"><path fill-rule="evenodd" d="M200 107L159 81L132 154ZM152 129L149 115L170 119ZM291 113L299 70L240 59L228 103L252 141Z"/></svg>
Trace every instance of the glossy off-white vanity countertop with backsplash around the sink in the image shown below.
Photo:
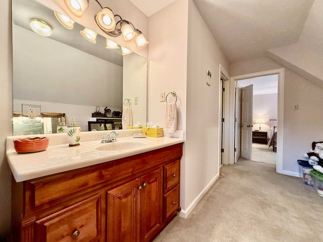
<svg viewBox="0 0 323 242"><path fill-rule="evenodd" d="M101 137L98 137L98 134L109 134L110 131L83 132L81 136L81 141L83 140L83 142L80 142L79 146L74 147L69 147L66 134L10 136L7 137L6 144L7 160L16 181L20 182L184 142L183 131L177 131L175 135L172 135L173 137L164 136L159 138L133 138L132 135L134 133L141 133L141 130L120 130L117 132L119 133L119 137L117 138L119 142L138 141L145 143L146 146L127 150L96 150L95 148L101 145ZM18 154L14 149L13 140L26 137L49 137L49 145L45 151Z"/></svg>

